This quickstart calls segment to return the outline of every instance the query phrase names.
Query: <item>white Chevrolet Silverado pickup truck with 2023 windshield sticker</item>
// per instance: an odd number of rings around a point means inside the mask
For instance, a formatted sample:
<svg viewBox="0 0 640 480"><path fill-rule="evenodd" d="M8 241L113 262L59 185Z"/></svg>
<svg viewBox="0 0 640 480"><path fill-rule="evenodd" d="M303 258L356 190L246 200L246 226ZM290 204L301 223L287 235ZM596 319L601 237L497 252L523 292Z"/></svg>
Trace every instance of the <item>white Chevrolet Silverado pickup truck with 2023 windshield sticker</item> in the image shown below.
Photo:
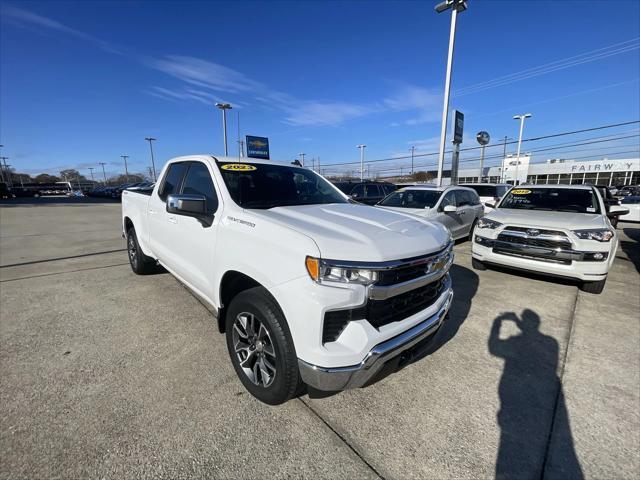
<svg viewBox="0 0 640 480"><path fill-rule="evenodd" d="M431 341L453 292L448 230L353 203L315 172L196 155L124 191L131 268L165 267L217 312L245 388L365 386Z"/></svg>

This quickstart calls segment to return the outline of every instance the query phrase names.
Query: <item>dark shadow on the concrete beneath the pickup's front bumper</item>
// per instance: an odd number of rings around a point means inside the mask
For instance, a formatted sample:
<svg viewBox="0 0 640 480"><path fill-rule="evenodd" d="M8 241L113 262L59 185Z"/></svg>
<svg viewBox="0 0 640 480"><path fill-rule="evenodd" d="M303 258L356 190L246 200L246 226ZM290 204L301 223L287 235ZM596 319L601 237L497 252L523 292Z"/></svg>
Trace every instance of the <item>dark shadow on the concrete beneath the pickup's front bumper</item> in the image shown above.
<svg viewBox="0 0 640 480"><path fill-rule="evenodd" d="M479 278L473 270L456 264L451 266L449 273L454 288L453 303L449 308L449 314L445 322L438 332L426 340L421 346L416 347L410 356L404 356L402 360L397 362L390 361L383 367L379 374L369 381L367 386L378 383L389 375L399 372L406 366L424 359L455 338L458 330L460 330L460 327L469 315L471 300L478 291ZM310 398L318 399L327 398L340 392L325 392L308 387L303 394L304 393L308 394Z"/></svg>

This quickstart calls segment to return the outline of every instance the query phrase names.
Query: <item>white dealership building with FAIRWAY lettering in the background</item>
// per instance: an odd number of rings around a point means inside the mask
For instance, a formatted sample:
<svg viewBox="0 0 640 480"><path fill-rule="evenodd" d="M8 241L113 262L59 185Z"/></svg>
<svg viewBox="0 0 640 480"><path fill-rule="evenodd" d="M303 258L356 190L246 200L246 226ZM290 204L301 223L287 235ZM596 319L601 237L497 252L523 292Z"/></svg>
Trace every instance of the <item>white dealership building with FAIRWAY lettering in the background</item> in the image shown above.
<svg viewBox="0 0 640 480"><path fill-rule="evenodd" d="M485 167L483 181L489 183L638 185L640 184L640 158L578 161L550 159L544 163L531 163L530 156L508 156L502 165ZM479 182L480 169L460 169L458 183Z"/></svg>

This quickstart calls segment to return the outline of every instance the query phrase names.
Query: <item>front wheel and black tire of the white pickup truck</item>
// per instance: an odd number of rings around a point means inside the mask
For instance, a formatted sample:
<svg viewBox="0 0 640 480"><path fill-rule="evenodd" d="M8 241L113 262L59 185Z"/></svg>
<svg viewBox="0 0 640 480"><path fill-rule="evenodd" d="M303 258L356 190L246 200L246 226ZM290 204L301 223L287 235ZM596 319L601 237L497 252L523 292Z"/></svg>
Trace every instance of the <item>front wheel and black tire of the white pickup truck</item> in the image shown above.
<svg viewBox="0 0 640 480"><path fill-rule="evenodd" d="M279 405L301 391L303 382L289 326L265 288L251 288L234 297L225 322L231 363L251 395ZM245 326L249 324L253 326Z"/></svg>

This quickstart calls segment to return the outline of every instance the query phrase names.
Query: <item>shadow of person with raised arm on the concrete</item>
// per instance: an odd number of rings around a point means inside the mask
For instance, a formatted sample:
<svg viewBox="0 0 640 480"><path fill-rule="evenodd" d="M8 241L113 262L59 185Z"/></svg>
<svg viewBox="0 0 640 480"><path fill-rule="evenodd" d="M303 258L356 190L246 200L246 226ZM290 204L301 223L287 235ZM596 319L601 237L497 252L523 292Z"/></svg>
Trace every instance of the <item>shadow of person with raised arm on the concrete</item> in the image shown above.
<svg viewBox="0 0 640 480"><path fill-rule="evenodd" d="M500 338L505 322L513 322L519 334ZM584 478L573 446L562 385L556 374L558 342L539 330L540 317L524 310L497 317L489 336L489 352L504 359L498 387L500 396L500 446L496 479L551 477ZM549 445L553 444L553 451ZM556 448L557 445L557 448Z"/></svg>

